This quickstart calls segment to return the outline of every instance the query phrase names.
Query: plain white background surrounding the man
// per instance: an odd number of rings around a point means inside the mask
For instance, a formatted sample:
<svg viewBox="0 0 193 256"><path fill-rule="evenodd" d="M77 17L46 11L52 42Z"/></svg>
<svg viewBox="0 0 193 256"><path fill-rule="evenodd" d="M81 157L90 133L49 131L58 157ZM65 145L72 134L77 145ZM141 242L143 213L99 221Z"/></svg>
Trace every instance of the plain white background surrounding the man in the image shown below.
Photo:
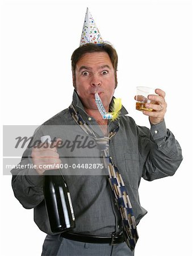
<svg viewBox="0 0 193 256"><path fill-rule="evenodd" d="M192 3L191 1L2 1L1 84L4 125L40 125L72 101L70 56L79 46L86 7L119 55L118 88L129 115L137 85L162 88L166 125L183 149L173 177L141 181L136 256L192 255ZM1 177L3 256L38 256L45 234L33 210L15 199L11 176ZM161 211L165 204L165 210Z"/></svg>

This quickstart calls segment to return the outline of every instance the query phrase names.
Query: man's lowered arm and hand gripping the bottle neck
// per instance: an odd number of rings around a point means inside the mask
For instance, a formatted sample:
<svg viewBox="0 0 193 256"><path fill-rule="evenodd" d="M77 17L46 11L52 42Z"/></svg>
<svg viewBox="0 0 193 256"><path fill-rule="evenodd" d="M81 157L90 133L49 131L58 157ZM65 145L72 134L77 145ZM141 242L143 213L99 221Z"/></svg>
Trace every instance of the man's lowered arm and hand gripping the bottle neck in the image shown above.
<svg viewBox="0 0 193 256"><path fill-rule="evenodd" d="M40 135L35 135L35 138L39 137ZM11 170L14 195L24 208L34 208L43 201L43 174L46 170L51 170L61 163L55 147L57 142L58 140L53 143L52 147L48 144L46 147L40 145L35 148L27 148L20 165L27 167L28 164L31 164L34 168L14 168Z"/></svg>

